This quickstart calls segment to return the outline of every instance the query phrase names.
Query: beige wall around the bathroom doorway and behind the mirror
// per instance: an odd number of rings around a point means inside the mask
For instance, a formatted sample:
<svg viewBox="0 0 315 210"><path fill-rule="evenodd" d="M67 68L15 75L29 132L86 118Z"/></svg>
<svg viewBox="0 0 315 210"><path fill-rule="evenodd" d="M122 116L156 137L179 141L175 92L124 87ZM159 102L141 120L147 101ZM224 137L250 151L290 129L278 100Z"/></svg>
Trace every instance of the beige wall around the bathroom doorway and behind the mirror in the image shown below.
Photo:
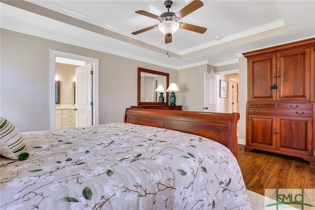
<svg viewBox="0 0 315 210"><path fill-rule="evenodd" d="M21 132L50 129L50 50L99 60L99 124L122 122L137 105L137 69L163 71L177 81L177 70L58 41L0 31L0 116Z"/></svg>

